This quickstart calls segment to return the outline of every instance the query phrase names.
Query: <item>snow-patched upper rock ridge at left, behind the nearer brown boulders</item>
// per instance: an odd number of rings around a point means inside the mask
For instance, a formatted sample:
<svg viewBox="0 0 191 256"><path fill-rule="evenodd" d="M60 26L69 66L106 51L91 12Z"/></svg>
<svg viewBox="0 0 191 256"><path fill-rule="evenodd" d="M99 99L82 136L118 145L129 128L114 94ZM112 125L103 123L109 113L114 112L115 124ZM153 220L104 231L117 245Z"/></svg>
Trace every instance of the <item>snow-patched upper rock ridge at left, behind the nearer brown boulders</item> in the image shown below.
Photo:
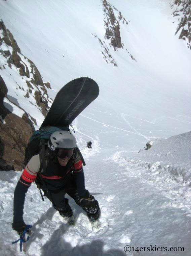
<svg viewBox="0 0 191 256"><path fill-rule="evenodd" d="M22 90L26 94L24 97L29 98L29 104L35 105L44 116L51 105L52 100L49 99L47 94L47 88L50 88L50 84L43 83L42 77L34 65L34 63L23 56L20 48L13 38L11 32L6 29L3 21L0 20L0 55L4 58L0 70L3 70L8 66L10 69L16 67L18 73L25 80L25 87L17 84L17 90ZM3 74L2 74L3 75ZM32 98L32 100L30 100ZM32 103L35 99L35 104ZM31 116L31 115L30 115ZM35 117L31 118L32 122L36 124Z"/></svg>

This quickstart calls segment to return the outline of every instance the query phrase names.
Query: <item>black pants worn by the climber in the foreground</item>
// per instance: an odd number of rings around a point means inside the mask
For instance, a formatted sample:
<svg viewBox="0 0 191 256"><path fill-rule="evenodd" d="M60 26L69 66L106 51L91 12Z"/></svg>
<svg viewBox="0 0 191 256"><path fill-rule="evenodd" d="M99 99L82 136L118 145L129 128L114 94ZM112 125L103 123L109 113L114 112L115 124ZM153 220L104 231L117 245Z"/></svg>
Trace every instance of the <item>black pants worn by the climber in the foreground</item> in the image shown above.
<svg viewBox="0 0 191 256"><path fill-rule="evenodd" d="M65 195L72 197L76 204L82 207L87 212L90 221L95 221L100 217L99 203L93 196L89 199L80 198L76 192L76 184L73 178L69 179L67 185L59 191L46 190L46 197L52 202L53 207L59 211L63 217L73 215L72 209Z"/></svg>

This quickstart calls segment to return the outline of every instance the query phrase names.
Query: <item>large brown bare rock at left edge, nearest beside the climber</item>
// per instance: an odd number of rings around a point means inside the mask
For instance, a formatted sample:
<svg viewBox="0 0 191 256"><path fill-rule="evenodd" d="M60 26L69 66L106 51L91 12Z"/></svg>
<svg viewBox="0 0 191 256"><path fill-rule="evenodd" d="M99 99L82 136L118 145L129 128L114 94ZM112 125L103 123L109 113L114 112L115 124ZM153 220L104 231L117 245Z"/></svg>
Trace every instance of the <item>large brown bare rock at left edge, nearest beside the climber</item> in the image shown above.
<svg viewBox="0 0 191 256"><path fill-rule="evenodd" d="M23 116L18 117L4 106L7 92L7 86L0 76L0 170L22 170L25 148L35 129L23 109Z"/></svg>

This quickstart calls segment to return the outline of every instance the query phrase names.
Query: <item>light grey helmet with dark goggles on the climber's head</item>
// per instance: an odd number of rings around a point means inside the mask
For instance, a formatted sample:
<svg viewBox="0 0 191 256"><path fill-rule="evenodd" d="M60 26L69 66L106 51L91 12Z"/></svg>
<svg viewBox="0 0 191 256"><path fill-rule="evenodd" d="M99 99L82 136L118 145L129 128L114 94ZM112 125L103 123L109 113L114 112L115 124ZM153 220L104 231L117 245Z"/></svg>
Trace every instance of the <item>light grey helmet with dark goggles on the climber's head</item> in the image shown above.
<svg viewBox="0 0 191 256"><path fill-rule="evenodd" d="M76 146L76 138L70 131L53 132L48 140L49 149L60 158L65 157L65 155L72 157Z"/></svg>

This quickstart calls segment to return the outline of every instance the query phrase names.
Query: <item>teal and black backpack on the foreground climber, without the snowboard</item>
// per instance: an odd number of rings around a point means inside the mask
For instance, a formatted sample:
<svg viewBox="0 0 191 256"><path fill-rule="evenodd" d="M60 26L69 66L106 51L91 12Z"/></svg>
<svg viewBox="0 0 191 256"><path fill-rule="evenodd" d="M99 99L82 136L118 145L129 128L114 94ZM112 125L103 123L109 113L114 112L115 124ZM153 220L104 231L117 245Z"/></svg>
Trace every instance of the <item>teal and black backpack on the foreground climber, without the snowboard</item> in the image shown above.
<svg viewBox="0 0 191 256"><path fill-rule="evenodd" d="M49 136L53 132L59 131L59 130L70 131L70 128L71 128L72 132L75 133L72 125L70 125L70 127L69 126L67 126L67 127L45 126L37 131L34 131L34 133L32 134L32 136L29 139L27 148L25 149L25 160L23 162L23 169L25 168L25 166L27 165L29 160L32 158L32 156L39 154L40 170L41 170L40 173L43 173L46 175L47 174L46 169L47 169L47 165L48 165L48 139L49 139ZM85 166L86 164L85 164L85 161L83 159L83 156L82 156L79 148L76 147L76 150L82 160L83 166ZM40 175L37 175L35 183L39 189L42 188L42 180L40 178ZM40 194L41 194L42 200L44 201L41 190L40 190Z"/></svg>

